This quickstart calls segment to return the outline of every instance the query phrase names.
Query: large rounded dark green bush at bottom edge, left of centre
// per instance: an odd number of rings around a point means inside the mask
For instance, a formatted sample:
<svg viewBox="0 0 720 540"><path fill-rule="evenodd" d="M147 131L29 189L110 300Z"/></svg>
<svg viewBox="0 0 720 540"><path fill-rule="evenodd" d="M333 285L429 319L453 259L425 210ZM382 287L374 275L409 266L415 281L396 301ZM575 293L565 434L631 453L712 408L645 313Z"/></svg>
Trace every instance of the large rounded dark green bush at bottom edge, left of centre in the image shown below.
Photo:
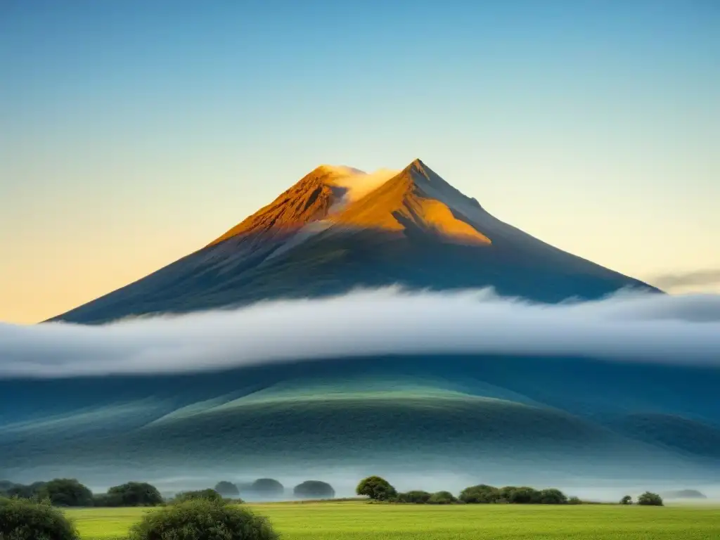
<svg viewBox="0 0 720 540"><path fill-rule="evenodd" d="M276 540L266 518L212 500L187 500L143 516L130 540Z"/></svg>

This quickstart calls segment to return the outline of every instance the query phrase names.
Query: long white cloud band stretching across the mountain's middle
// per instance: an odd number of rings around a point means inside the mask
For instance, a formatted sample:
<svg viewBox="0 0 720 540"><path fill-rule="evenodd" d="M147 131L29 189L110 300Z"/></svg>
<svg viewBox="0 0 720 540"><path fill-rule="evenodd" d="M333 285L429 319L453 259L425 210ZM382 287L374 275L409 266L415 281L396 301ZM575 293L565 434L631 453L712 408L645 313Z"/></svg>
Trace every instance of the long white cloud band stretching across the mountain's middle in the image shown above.
<svg viewBox="0 0 720 540"><path fill-rule="evenodd" d="M199 372L377 354L591 356L720 367L720 295L544 305L390 287L102 326L0 324L0 378Z"/></svg>

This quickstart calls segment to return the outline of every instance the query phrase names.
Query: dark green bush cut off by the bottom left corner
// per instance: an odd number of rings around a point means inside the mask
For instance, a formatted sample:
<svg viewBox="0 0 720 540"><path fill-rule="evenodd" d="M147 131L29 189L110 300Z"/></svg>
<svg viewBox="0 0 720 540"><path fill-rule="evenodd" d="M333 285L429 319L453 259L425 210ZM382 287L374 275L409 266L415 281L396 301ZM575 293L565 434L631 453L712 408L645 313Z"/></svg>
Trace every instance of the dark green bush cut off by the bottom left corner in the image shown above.
<svg viewBox="0 0 720 540"><path fill-rule="evenodd" d="M79 540L73 523L49 501L0 499L0 539Z"/></svg>

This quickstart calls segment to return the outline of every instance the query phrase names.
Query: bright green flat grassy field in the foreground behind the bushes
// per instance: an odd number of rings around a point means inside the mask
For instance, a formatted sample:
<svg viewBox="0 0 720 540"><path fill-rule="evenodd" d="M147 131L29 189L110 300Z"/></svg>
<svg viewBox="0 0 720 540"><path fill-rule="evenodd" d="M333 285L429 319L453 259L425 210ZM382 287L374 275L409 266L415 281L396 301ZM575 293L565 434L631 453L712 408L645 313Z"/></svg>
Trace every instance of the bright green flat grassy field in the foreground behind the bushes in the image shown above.
<svg viewBox="0 0 720 540"><path fill-rule="evenodd" d="M717 540L720 509L620 505L253 505L286 540ZM142 509L68 510L84 540L124 539Z"/></svg>

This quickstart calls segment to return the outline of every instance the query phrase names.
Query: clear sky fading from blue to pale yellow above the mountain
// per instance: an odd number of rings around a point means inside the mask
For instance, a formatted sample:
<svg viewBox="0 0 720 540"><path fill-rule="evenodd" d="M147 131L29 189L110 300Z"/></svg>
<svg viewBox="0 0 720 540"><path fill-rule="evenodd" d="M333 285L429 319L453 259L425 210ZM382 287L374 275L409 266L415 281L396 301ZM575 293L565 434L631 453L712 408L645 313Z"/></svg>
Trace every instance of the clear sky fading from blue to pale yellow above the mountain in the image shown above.
<svg viewBox="0 0 720 540"><path fill-rule="evenodd" d="M720 292L720 4L2 0L0 320L132 282L320 163L415 158L559 248Z"/></svg>

